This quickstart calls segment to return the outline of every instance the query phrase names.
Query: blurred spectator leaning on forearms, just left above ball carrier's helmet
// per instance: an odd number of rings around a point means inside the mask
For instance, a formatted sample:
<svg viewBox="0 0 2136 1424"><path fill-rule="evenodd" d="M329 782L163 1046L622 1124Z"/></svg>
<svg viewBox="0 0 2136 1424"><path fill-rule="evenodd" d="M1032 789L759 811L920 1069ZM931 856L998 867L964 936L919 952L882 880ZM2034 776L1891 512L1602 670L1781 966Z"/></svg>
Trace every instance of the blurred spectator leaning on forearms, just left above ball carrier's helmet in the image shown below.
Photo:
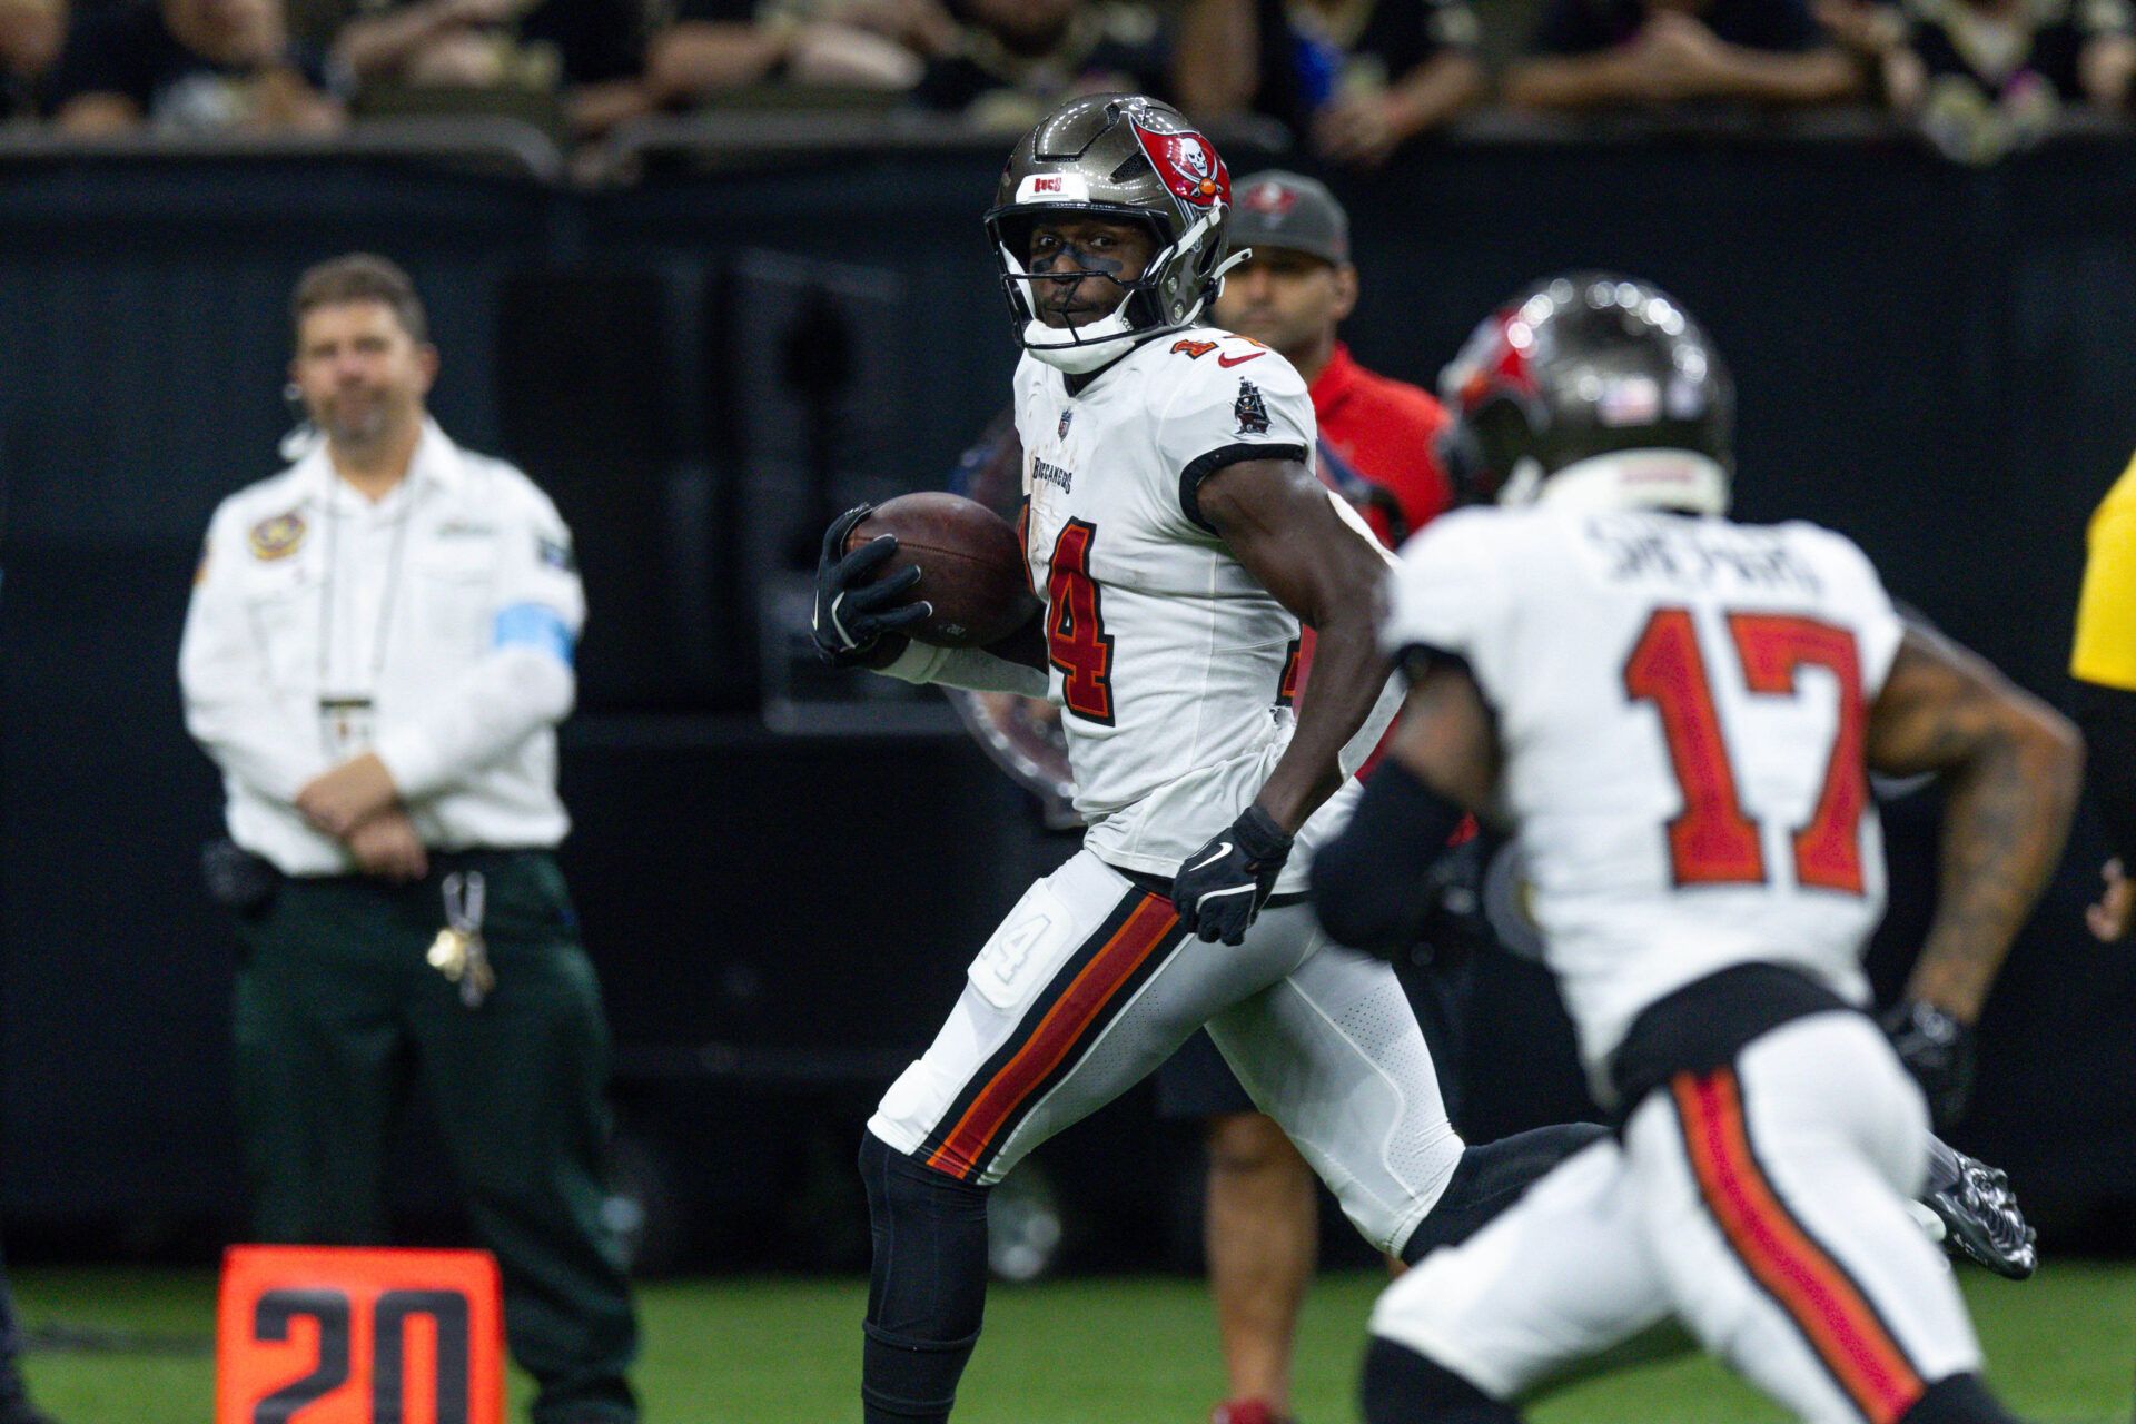
<svg viewBox="0 0 2136 1424"><path fill-rule="evenodd" d="M904 92L955 43L940 0L681 0L645 73L669 107L765 83Z"/></svg>

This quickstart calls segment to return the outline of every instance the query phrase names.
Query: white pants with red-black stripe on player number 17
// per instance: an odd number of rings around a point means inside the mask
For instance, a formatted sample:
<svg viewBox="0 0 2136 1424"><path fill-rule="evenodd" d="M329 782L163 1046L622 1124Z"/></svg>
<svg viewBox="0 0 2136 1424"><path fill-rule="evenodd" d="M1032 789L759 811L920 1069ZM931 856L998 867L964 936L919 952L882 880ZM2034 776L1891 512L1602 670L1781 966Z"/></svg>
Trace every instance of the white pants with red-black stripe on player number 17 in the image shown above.
<svg viewBox="0 0 2136 1424"><path fill-rule="evenodd" d="M1675 1313L1803 1420L1892 1424L1980 1368L1950 1268L1905 1211L1927 1134L1869 1018L1796 1018L1655 1089L1621 1144L1429 1255L1371 1332L1514 1401Z"/></svg>

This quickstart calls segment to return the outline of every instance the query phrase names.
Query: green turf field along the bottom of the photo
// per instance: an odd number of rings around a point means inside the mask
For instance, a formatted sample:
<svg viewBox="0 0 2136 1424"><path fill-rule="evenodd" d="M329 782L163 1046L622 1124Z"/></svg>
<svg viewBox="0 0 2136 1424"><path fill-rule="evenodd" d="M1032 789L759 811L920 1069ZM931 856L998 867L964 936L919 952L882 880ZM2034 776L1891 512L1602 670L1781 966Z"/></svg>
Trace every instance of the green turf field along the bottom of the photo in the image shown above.
<svg viewBox="0 0 2136 1424"><path fill-rule="evenodd" d="M2051 1264L2025 1285L1972 1270L1963 1279L1991 1375L2025 1418L2127 1424L2136 1266ZM1333 1275L1314 1292L1299 1345L1307 1424L1354 1418L1352 1373L1380 1283ZM26 1270L17 1292L41 1343L30 1358L32 1388L62 1424L209 1420L211 1277ZM844 1424L859 1415L865 1283L679 1281L649 1285L641 1300L647 1424ZM1215 1330L1194 1281L995 1287L957 1418L1200 1424L1218 1386ZM1747 1424L1781 1413L1702 1360L1681 1360L1583 1386L1534 1418Z"/></svg>

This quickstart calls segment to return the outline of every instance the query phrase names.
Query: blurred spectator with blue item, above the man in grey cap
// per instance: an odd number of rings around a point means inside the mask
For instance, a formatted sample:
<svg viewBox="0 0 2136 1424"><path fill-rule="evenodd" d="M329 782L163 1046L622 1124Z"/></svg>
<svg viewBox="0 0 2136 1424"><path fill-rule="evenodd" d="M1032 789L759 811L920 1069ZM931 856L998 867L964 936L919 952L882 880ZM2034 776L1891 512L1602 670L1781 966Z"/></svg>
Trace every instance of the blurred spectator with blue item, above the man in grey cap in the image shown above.
<svg viewBox="0 0 2136 1424"><path fill-rule="evenodd" d="M1265 113L1358 167L1485 92L1467 0L1188 0L1175 75L1198 122Z"/></svg>

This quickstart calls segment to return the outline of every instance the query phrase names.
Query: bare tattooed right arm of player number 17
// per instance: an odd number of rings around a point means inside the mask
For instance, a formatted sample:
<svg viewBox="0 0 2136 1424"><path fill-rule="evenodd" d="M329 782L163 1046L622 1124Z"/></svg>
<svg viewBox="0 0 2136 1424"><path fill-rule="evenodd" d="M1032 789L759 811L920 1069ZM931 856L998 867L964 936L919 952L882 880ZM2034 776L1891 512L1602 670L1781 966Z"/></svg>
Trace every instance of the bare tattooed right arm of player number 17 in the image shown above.
<svg viewBox="0 0 2136 1424"><path fill-rule="evenodd" d="M1974 1023L2061 856L2083 739L1986 660L1907 626L1869 711L1869 764L1944 775L1935 918L1905 997Z"/></svg>

